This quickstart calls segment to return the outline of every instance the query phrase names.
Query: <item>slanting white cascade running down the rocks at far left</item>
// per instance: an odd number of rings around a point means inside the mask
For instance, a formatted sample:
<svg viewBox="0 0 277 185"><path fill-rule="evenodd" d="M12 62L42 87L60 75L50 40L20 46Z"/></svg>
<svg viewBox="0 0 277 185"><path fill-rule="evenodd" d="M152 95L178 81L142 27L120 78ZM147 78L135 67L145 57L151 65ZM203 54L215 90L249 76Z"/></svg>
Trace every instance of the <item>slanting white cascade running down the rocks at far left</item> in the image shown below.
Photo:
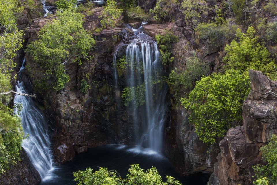
<svg viewBox="0 0 277 185"><path fill-rule="evenodd" d="M19 78L25 70L23 64L20 67ZM27 93L22 81L17 81L16 92ZM53 169L53 155L50 150L50 140L48 136L47 122L42 113L36 108L31 97L15 95L14 104L21 103L22 110L19 113L21 124L25 134L29 136L23 140L22 147L27 152L35 169L39 172L42 179L47 178L49 170ZM17 108L14 113L17 114Z"/></svg>

